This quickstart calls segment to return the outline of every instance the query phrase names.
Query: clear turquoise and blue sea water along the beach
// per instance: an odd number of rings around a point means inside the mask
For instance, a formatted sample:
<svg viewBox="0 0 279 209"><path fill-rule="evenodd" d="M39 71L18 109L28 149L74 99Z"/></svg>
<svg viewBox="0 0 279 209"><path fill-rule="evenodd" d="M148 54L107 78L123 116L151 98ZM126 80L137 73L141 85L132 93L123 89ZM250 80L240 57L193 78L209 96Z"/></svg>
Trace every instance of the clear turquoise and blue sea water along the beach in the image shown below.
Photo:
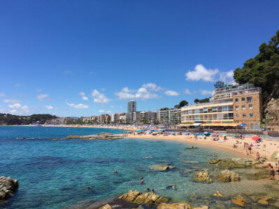
<svg viewBox="0 0 279 209"><path fill-rule="evenodd" d="M151 139L114 141L50 138L122 130L88 127L0 127L0 176L19 180L20 187L0 208L65 208L78 201L98 201L129 189L185 201L191 194L228 189L229 185L193 183L189 169L202 169L212 159L209 148L187 149L189 144ZM27 138L27 139L22 139ZM33 139L35 138L35 139ZM214 151L218 157L227 153ZM143 156L153 158L144 159ZM169 164L172 171L153 171L152 164ZM119 173L114 174L114 170ZM140 184L143 177L145 183ZM166 189L178 185L177 190ZM92 189L87 189L91 186Z"/></svg>

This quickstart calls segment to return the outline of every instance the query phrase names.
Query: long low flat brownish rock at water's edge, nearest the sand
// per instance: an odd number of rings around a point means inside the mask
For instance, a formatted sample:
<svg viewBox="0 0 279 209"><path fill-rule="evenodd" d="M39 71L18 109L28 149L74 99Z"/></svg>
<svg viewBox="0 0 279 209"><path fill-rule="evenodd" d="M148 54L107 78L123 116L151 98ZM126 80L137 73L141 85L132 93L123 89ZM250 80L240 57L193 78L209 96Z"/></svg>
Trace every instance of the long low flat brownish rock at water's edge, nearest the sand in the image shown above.
<svg viewBox="0 0 279 209"><path fill-rule="evenodd" d="M218 158L209 161L209 164L216 164L217 167L225 169L251 167L255 161L246 158Z"/></svg>

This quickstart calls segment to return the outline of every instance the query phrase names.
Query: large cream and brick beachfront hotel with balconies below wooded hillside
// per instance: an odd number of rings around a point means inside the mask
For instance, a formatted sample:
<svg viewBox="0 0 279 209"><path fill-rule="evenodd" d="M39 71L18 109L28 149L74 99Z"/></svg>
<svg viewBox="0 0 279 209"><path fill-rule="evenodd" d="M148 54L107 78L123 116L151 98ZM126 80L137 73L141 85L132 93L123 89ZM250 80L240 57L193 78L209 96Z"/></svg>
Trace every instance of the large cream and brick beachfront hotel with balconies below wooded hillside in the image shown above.
<svg viewBox="0 0 279 209"><path fill-rule="evenodd" d="M262 89L254 84L226 86L217 82L210 102L181 108L181 126L214 129L259 130L262 121Z"/></svg>

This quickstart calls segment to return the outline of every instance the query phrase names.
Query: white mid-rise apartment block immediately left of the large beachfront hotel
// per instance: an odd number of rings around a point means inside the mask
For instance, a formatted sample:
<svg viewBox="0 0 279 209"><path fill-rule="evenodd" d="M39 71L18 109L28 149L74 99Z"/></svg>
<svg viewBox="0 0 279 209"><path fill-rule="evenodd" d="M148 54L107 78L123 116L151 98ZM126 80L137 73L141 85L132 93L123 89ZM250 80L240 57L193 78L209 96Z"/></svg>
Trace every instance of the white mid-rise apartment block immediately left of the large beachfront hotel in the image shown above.
<svg viewBox="0 0 279 209"><path fill-rule="evenodd" d="M157 121L162 124L181 123L181 109L166 109L156 111Z"/></svg>

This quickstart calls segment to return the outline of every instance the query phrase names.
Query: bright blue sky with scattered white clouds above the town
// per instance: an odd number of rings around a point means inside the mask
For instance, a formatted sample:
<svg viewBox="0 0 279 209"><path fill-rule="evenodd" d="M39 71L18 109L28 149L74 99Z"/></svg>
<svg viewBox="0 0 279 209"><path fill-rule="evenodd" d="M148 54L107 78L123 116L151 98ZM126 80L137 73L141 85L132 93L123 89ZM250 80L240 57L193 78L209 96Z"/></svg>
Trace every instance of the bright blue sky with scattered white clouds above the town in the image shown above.
<svg viewBox="0 0 279 209"><path fill-rule="evenodd" d="M278 28L279 1L0 1L0 112L91 116L206 98Z"/></svg>

